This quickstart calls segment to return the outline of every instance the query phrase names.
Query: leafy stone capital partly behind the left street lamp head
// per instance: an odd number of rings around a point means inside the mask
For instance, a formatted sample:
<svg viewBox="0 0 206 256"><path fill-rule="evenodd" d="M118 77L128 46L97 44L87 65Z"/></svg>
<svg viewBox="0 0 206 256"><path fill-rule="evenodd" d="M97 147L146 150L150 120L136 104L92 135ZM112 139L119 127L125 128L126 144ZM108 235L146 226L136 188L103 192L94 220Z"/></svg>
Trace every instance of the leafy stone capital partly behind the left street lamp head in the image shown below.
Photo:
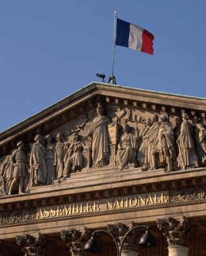
<svg viewBox="0 0 206 256"><path fill-rule="evenodd" d="M87 253L83 251L86 242L92 237L92 229L83 227L82 229L61 230L61 239L70 250L72 256L86 256Z"/></svg>

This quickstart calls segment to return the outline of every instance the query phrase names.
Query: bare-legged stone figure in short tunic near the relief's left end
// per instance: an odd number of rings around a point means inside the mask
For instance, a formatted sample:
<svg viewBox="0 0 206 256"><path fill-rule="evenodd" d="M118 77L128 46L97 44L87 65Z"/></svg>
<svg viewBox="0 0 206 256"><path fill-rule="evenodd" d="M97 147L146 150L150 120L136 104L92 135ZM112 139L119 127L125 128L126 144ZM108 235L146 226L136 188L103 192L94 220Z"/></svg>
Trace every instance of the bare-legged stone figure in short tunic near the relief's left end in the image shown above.
<svg viewBox="0 0 206 256"><path fill-rule="evenodd" d="M23 141L17 143L17 149L14 150L10 161L14 167L11 173L12 181L10 183L10 188L8 191L8 196L14 191L15 185L18 184L19 194L23 193L23 181L26 177L26 169L28 169L26 163L26 154L23 152L24 144Z"/></svg>

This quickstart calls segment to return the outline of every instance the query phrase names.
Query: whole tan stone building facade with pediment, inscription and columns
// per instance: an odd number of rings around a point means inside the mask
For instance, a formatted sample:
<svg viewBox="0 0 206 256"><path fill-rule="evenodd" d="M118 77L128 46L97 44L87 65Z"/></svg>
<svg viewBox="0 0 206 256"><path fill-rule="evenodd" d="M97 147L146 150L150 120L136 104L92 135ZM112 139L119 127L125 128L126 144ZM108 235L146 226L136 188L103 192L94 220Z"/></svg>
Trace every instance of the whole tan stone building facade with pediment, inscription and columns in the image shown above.
<svg viewBox="0 0 206 256"><path fill-rule="evenodd" d="M93 82L0 134L0 255L206 256L206 99ZM112 234L112 236L110 236Z"/></svg>

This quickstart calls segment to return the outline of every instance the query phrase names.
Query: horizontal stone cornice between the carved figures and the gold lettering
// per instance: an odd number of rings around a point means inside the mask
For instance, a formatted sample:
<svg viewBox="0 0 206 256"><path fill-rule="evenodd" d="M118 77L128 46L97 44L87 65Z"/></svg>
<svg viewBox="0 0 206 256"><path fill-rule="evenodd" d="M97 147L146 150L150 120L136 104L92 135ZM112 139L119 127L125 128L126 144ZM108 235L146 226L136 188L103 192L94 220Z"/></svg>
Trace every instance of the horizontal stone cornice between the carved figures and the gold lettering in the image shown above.
<svg viewBox="0 0 206 256"><path fill-rule="evenodd" d="M83 202L88 200L107 199L118 196L128 196L139 193L149 193L156 191L185 189L187 187L197 187L206 184L206 169L191 169L187 171L178 170L171 173L164 173L163 169L158 172L140 172L136 178L129 179L132 172L138 172L138 169L126 170L122 180L117 180L116 176L111 181L103 178L101 181L89 185L85 181L85 185L69 187L70 180L65 185L59 184L56 190L46 191L50 186L41 187L38 192L30 192L28 194L20 194L13 196L5 196L0 198L1 212L31 209L33 207L42 207L48 205L72 204L73 202ZM104 170L99 170L99 175ZM118 174L118 171L116 171ZM121 171L119 171L119 175ZM87 175L87 173L85 173ZM97 174L98 175L98 174ZM112 178L112 174L110 174ZM141 177L138 177L142 175ZM89 177L88 177L89 178Z"/></svg>

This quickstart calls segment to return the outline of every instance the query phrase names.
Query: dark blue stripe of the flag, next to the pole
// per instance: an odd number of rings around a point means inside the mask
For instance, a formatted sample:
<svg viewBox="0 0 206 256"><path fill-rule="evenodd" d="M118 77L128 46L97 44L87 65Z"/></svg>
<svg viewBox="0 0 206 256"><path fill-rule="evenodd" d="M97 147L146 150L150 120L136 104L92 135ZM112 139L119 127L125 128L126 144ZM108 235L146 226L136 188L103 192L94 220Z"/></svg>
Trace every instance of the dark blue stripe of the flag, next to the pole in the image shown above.
<svg viewBox="0 0 206 256"><path fill-rule="evenodd" d="M129 47L130 23L117 19L116 45Z"/></svg>

